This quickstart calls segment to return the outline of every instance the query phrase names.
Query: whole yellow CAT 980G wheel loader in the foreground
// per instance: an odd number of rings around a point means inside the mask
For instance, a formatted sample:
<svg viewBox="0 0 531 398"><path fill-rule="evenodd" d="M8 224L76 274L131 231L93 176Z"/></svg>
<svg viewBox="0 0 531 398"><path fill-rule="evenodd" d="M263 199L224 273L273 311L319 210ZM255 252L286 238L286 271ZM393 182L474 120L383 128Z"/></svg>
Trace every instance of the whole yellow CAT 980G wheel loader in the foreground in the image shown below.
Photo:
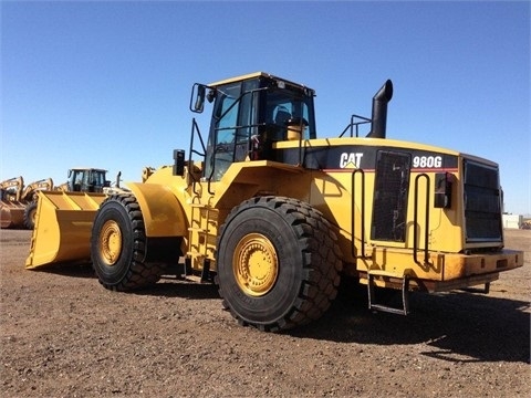
<svg viewBox="0 0 531 398"><path fill-rule="evenodd" d="M371 308L407 314L410 291L488 286L521 266L503 248L497 164L386 139L392 96L387 81L371 118L320 139L304 85L266 73L195 84L190 109L212 104L208 138L192 119L188 157L174 150L129 193L42 207L35 233L58 233L34 234L27 266L91 258L103 286L126 291L180 259L181 275L217 283L225 307L262 331L319 318L345 275L367 285ZM375 301L382 287L402 305Z"/></svg>

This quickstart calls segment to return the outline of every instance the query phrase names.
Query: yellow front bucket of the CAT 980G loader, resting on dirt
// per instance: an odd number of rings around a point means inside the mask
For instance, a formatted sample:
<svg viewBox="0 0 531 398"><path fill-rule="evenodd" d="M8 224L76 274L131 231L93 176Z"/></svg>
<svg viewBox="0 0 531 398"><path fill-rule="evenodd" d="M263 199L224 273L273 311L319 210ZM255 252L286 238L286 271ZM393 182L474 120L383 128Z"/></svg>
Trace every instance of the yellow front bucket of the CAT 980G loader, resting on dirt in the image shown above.
<svg viewBox="0 0 531 398"><path fill-rule="evenodd" d="M104 193L40 191L27 269L90 261L92 223Z"/></svg>

